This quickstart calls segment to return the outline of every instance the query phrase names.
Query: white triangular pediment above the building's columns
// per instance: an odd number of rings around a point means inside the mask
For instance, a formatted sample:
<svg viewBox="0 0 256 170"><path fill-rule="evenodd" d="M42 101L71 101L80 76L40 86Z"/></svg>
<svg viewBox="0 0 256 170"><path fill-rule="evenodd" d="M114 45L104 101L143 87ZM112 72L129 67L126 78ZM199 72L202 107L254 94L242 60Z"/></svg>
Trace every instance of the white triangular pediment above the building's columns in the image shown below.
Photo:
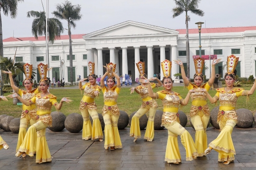
<svg viewBox="0 0 256 170"><path fill-rule="evenodd" d="M92 32L90 34L83 36L83 38L164 35L164 34L179 34L179 32L173 29L156 27L156 26L134 22L134 21L126 21L111 27L107 27L107 28Z"/></svg>

